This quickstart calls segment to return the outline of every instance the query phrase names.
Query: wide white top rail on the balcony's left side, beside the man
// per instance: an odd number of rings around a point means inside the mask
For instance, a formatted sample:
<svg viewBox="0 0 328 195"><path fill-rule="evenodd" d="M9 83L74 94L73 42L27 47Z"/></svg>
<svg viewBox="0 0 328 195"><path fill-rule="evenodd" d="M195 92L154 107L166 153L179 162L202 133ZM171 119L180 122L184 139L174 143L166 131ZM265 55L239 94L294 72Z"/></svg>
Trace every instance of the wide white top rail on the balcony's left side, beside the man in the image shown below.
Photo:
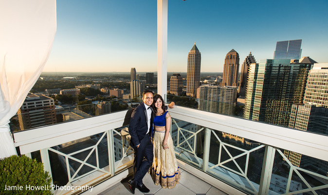
<svg viewBox="0 0 328 195"><path fill-rule="evenodd" d="M83 137L122 127L128 111L83 118L70 122L14 132L15 146L21 154L50 148Z"/></svg>

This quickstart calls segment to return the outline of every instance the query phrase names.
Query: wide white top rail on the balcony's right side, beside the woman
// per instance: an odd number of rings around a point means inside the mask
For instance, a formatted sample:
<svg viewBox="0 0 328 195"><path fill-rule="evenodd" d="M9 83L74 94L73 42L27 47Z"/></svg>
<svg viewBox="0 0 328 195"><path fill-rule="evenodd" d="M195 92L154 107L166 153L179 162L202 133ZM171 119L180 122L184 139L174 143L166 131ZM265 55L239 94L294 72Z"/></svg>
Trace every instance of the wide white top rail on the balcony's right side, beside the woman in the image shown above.
<svg viewBox="0 0 328 195"><path fill-rule="evenodd" d="M175 106L173 118L328 161L328 136Z"/></svg>

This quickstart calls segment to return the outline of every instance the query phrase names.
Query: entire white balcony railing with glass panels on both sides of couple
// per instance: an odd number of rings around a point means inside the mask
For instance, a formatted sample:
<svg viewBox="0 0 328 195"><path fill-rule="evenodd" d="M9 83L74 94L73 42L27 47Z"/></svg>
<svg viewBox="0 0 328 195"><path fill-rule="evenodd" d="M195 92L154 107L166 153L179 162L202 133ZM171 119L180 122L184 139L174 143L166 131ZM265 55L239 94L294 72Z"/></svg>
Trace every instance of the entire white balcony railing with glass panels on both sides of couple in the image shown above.
<svg viewBox="0 0 328 195"><path fill-rule="evenodd" d="M327 173L309 163L327 166L326 136L179 106L170 112L180 166L227 194L327 194ZM121 111L15 132L15 144L44 163L54 185L115 183L133 162L129 115ZM309 165L294 166L286 151L302 154ZM58 188L55 194L76 192L82 191Z"/></svg>

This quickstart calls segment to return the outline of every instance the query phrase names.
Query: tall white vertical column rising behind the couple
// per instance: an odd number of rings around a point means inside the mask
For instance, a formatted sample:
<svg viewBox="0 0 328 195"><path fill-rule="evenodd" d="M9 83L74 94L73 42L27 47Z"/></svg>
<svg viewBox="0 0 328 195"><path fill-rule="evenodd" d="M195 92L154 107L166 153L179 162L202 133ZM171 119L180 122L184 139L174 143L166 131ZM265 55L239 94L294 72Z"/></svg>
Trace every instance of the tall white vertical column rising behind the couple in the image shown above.
<svg viewBox="0 0 328 195"><path fill-rule="evenodd" d="M167 0L157 0L157 93L167 92Z"/></svg>

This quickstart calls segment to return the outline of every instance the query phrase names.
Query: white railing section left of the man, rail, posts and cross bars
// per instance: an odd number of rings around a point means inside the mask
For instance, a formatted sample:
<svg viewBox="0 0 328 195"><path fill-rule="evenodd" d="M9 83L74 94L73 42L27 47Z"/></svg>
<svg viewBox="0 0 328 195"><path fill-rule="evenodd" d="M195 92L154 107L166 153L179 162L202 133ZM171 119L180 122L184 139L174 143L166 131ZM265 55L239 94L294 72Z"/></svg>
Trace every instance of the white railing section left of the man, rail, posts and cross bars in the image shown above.
<svg viewBox="0 0 328 195"><path fill-rule="evenodd" d="M30 129L26 131L14 132L15 137L15 146L19 148L20 154L27 155L31 157L31 152L40 151L41 160L44 164L44 169L48 171L52 177L52 170L49 159L49 151L54 152L55 154L61 155L65 158L66 169L68 175L68 183L66 186L74 185L73 182L87 176L93 172L98 172L97 180L102 180L104 177L114 176L116 172L126 170L132 165L133 158L128 153L131 151L130 147L126 147L122 140L122 151L123 156L120 160L115 162L114 158L114 137L113 134L118 134L122 137L121 133L117 131L117 128L123 126L125 118L128 111L121 111L117 113L102 115L98 117L84 118L80 120L44 126L36 129ZM96 134L102 134L97 143L88 148L83 148L81 150L75 151L73 153L65 154L58 150L55 150L54 146L64 144L73 140L77 140L84 137L90 137ZM108 168L99 167L99 159L97 147L99 143L106 136L107 146L108 146L108 156L109 156L109 165ZM127 148L127 149L126 149ZM77 159L73 155L90 150L84 160ZM91 154L95 152L96 154L96 166L87 163L87 160L90 158ZM125 157L128 156L128 162L123 164L122 161ZM79 162L80 165L78 169L71 176L70 172L70 163L69 159ZM93 170L83 175L77 176L79 171L83 166L91 167ZM103 174L100 174L103 173ZM100 175L100 176L99 176ZM97 182L97 180L92 180L92 182ZM84 184L85 185L85 184ZM92 185L89 183L88 185ZM54 192L56 195L62 193L68 193L66 191L57 190Z"/></svg>

